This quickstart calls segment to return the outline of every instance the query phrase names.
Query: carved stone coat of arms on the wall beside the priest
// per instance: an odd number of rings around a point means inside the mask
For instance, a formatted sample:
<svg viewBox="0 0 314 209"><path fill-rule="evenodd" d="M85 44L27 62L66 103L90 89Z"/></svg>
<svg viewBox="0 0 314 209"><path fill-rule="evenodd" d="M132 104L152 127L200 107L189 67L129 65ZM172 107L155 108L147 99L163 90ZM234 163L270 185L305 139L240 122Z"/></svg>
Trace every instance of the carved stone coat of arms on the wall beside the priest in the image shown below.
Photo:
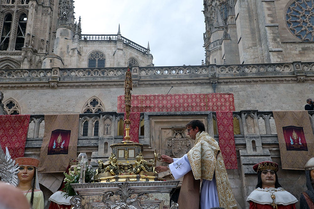
<svg viewBox="0 0 314 209"><path fill-rule="evenodd" d="M174 133L173 137L168 139L166 155L181 158L191 149L191 142L188 138L185 138L183 133L185 129L186 128L183 127L171 128Z"/></svg>

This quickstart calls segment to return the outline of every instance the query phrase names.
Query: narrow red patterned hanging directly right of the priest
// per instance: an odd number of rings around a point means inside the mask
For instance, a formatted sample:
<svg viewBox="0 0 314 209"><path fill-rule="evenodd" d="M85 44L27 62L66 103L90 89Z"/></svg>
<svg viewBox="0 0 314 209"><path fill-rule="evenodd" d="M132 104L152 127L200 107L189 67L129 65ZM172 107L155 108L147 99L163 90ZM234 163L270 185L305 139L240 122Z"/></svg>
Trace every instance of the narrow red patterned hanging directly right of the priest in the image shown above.
<svg viewBox="0 0 314 209"><path fill-rule="evenodd" d="M226 169L238 169L236 143L233 134L233 116L231 111L216 112L219 133L219 147Z"/></svg>

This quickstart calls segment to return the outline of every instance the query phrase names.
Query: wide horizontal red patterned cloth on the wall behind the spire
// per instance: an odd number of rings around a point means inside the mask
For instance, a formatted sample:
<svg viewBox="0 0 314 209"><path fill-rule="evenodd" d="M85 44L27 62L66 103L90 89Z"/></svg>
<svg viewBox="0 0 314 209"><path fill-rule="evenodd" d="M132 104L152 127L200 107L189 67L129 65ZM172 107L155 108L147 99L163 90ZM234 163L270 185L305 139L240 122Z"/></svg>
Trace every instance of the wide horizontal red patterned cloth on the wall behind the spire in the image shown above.
<svg viewBox="0 0 314 209"><path fill-rule="evenodd" d="M118 111L124 112L124 95ZM131 112L235 111L233 94L146 94L131 96Z"/></svg>

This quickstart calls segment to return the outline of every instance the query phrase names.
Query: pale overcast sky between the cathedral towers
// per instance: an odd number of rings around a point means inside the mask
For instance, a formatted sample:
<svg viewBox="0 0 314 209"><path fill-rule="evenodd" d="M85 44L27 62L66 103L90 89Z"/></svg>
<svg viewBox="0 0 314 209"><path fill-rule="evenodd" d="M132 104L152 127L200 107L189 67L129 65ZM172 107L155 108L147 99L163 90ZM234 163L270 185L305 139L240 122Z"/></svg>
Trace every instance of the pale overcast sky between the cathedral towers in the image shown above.
<svg viewBox="0 0 314 209"><path fill-rule="evenodd" d="M202 0L74 0L82 34L117 34L145 48L155 66L201 65L205 60Z"/></svg>

